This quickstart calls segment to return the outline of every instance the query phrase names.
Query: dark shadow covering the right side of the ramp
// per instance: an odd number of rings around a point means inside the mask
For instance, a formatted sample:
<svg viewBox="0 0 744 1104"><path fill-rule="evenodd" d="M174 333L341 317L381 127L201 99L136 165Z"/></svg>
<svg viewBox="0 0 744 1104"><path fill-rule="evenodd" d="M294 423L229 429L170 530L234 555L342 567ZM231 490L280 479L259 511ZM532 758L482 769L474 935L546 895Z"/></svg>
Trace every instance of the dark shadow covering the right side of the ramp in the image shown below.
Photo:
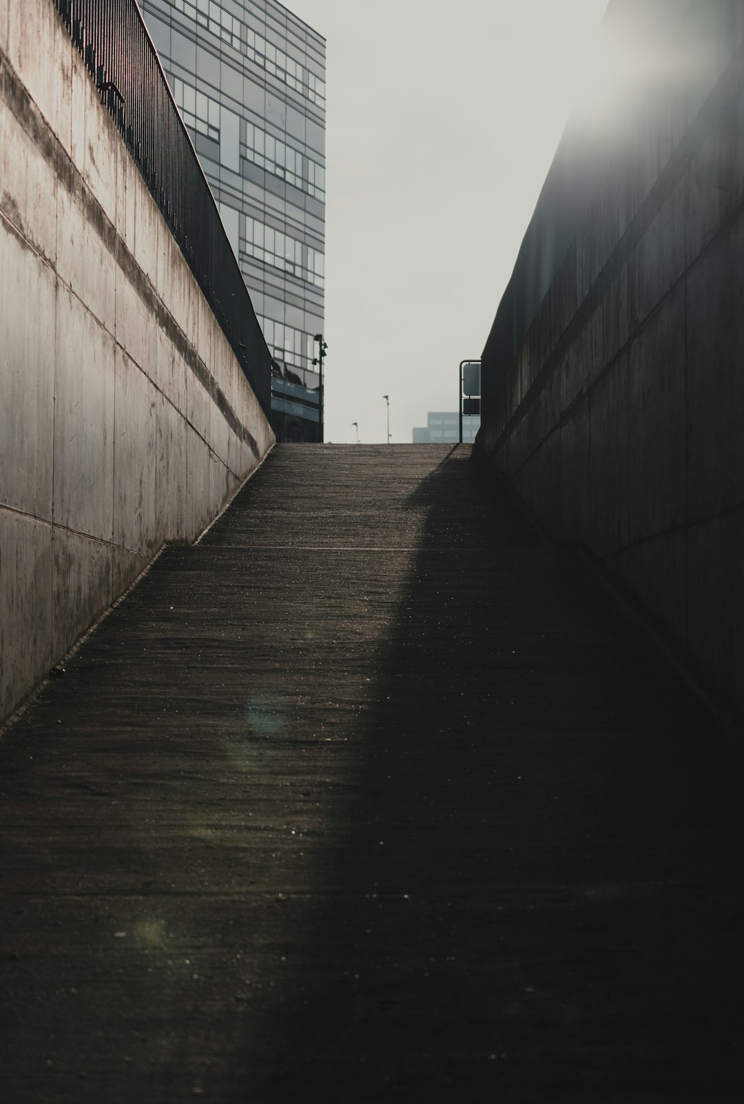
<svg viewBox="0 0 744 1104"><path fill-rule="evenodd" d="M741 755L464 456L410 506L426 522L354 734L336 890L264 1091L733 1101Z"/></svg>

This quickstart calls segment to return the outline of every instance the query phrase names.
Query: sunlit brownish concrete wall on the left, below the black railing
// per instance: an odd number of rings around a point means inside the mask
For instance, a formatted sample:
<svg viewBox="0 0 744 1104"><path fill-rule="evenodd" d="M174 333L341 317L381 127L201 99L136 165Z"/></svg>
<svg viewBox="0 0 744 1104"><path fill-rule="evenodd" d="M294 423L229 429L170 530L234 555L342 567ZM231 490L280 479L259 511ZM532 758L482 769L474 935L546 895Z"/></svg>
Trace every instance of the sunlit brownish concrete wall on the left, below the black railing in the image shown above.
<svg viewBox="0 0 744 1104"><path fill-rule="evenodd" d="M50 0L0 0L0 722L274 436Z"/></svg>

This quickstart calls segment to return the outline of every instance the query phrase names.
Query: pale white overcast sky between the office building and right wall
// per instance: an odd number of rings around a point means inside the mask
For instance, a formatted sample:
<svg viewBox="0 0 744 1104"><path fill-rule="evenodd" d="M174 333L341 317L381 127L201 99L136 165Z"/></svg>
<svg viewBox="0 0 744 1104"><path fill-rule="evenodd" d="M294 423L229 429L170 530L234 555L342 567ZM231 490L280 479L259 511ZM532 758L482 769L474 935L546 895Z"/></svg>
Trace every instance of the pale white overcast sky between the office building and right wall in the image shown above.
<svg viewBox="0 0 744 1104"><path fill-rule="evenodd" d="M326 440L457 408L607 0L287 0L328 40Z"/></svg>

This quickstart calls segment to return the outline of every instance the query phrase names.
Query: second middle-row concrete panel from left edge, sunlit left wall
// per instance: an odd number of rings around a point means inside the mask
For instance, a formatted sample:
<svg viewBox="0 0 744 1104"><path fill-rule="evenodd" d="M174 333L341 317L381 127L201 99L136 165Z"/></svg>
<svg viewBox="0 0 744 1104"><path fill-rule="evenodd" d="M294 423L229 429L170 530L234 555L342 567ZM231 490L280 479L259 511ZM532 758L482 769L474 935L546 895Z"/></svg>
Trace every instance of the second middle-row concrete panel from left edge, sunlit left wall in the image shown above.
<svg viewBox="0 0 744 1104"><path fill-rule="evenodd" d="M63 286L55 365L54 522L110 541L114 339Z"/></svg>

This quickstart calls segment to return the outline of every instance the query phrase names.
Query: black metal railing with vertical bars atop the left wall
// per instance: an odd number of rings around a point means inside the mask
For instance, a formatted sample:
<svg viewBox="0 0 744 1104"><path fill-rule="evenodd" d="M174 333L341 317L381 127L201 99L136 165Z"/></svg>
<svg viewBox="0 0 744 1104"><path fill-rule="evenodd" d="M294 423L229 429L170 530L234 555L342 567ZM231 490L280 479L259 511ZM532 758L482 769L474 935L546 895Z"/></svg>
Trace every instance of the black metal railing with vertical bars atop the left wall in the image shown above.
<svg viewBox="0 0 744 1104"><path fill-rule="evenodd" d="M264 413L272 354L136 0L53 0Z"/></svg>

